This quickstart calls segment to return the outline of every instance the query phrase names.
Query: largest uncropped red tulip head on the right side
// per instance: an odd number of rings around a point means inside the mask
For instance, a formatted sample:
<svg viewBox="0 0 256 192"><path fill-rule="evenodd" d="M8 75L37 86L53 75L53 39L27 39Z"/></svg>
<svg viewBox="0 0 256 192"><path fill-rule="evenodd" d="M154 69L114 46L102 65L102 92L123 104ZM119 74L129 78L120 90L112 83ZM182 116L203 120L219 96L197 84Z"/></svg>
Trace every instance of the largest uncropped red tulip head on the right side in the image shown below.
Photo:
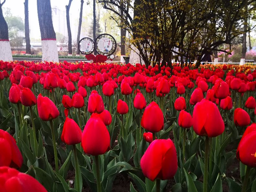
<svg viewBox="0 0 256 192"><path fill-rule="evenodd" d="M197 135L216 137L224 131L224 122L218 107L206 99L196 104L192 120Z"/></svg>

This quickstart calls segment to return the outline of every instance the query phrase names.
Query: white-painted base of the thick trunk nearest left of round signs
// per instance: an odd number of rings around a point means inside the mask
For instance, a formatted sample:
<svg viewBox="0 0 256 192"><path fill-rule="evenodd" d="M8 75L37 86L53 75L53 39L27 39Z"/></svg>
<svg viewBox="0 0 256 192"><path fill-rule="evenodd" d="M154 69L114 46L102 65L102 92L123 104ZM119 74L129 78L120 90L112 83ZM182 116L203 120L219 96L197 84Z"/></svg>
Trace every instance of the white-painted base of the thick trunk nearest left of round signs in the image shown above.
<svg viewBox="0 0 256 192"><path fill-rule="evenodd" d="M42 61L59 62L56 40L42 40Z"/></svg>

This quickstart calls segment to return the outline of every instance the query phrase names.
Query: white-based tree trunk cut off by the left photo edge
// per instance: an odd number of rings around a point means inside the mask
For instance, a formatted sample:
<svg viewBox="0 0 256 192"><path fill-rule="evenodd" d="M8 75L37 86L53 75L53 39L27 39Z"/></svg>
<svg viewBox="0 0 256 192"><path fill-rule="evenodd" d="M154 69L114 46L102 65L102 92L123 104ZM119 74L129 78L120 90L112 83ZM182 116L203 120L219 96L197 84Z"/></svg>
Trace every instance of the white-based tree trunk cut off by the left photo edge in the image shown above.
<svg viewBox="0 0 256 192"><path fill-rule="evenodd" d="M11 46L8 35L8 25L5 21L2 5L5 3L0 2L0 60L13 61Z"/></svg>

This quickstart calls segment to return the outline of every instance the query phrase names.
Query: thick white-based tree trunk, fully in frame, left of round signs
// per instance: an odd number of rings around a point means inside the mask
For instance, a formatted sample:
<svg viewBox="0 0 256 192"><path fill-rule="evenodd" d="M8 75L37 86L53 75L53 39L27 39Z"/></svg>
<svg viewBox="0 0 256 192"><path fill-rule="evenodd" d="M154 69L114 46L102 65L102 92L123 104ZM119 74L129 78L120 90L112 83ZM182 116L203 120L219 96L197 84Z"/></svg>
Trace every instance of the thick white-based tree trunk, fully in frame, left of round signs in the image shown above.
<svg viewBox="0 0 256 192"><path fill-rule="evenodd" d="M37 15L42 40L42 61L59 62L50 0L37 0Z"/></svg>

